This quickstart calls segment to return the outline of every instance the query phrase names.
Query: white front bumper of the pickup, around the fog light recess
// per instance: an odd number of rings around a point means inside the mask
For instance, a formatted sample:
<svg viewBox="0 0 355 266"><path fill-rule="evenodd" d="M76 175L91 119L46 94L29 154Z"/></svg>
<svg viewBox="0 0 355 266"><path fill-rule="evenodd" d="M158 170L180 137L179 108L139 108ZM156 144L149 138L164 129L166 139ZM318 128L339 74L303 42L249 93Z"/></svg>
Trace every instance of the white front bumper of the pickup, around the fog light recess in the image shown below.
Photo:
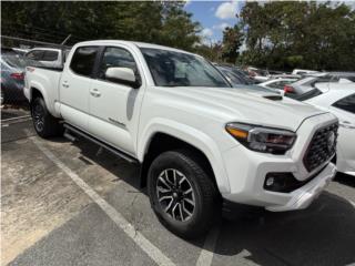
<svg viewBox="0 0 355 266"><path fill-rule="evenodd" d="M336 167L325 162L308 172L303 157L314 132L336 122L331 114L307 119L297 131L297 140L285 155L257 153L243 145L223 153L230 192L222 196L233 203L261 206L268 211L282 212L307 207L325 188L336 173ZM292 173L304 185L290 192L272 192L264 188L267 173Z"/></svg>

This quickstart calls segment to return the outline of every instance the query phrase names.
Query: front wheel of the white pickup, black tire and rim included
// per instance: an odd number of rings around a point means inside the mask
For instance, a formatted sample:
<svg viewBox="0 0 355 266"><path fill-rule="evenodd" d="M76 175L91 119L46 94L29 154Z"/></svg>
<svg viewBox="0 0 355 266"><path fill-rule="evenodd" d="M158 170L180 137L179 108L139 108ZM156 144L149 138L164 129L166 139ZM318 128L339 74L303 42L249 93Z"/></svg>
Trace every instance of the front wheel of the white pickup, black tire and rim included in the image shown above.
<svg viewBox="0 0 355 266"><path fill-rule="evenodd" d="M211 176L197 156L186 150L164 152L152 162L148 190L158 218L183 238L205 234L221 216L220 196Z"/></svg>

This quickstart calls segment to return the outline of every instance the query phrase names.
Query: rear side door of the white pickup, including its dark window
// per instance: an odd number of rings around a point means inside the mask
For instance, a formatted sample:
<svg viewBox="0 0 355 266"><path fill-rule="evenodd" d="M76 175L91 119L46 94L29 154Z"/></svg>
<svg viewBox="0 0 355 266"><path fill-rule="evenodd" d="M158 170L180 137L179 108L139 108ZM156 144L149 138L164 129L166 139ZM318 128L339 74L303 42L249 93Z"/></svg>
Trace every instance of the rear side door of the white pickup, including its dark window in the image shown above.
<svg viewBox="0 0 355 266"><path fill-rule="evenodd" d="M83 131L88 131L89 91L98 57L98 47L77 48L59 84L61 115L68 123Z"/></svg>

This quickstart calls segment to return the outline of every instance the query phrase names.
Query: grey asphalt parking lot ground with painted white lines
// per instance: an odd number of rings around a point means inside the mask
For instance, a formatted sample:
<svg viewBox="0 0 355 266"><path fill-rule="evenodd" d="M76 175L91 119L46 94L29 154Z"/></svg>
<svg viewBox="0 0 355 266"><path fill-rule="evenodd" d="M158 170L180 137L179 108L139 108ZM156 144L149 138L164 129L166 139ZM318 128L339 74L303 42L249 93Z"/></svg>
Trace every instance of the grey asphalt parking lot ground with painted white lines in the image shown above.
<svg viewBox="0 0 355 266"><path fill-rule="evenodd" d="M338 176L307 209L241 214L214 236L184 241L159 223L133 165L85 141L41 140L31 121L2 127L1 142L3 265L355 263L352 176Z"/></svg>

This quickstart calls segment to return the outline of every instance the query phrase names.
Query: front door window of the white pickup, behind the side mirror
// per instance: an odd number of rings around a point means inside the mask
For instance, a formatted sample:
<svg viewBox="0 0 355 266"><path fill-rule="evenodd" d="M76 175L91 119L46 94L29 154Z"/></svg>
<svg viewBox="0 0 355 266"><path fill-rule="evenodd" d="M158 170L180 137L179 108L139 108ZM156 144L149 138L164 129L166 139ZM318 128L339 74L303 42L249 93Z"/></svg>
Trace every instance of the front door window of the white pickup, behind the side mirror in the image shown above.
<svg viewBox="0 0 355 266"><path fill-rule="evenodd" d="M139 75L138 68L132 54L123 48L106 48L104 50L99 70L99 79L105 80L108 68L129 68L135 76Z"/></svg>

